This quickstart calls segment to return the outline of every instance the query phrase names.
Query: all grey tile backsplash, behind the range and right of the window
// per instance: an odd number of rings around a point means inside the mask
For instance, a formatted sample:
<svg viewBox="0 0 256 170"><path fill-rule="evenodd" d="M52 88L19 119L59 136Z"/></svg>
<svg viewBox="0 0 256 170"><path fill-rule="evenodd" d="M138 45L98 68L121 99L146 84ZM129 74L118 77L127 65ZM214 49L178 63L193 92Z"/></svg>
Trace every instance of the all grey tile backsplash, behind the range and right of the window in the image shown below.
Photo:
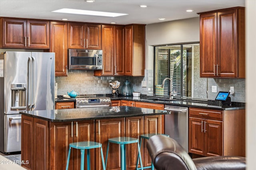
<svg viewBox="0 0 256 170"><path fill-rule="evenodd" d="M120 91L124 80L129 80L134 92L141 92L149 96L153 95L154 71L145 70L145 76L94 76L93 70L68 70L68 76L55 77L58 83L58 95L67 94L72 90L79 94L111 94L109 83L118 80L121 82ZM146 81L147 87L142 87L142 81ZM214 100L217 93L212 93L212 86L217 86L217 92L228 92L230 86L234 86L234 94L230 95L232 102L245 103L245 79L235 78L208 78L208 99Z"/></svg>

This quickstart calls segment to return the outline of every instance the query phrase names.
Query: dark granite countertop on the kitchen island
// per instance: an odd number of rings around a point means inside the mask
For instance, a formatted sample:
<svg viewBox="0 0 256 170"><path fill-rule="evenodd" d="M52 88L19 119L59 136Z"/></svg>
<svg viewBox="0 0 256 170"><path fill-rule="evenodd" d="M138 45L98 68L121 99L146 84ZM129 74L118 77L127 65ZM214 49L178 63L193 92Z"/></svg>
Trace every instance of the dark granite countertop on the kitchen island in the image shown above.
<svg viewBox="0 0 256 170"><path fill-rule="evenodd" d="M82 121L90 119L110 119L117 117L135 117L147 115L164 115L170 114L169 111L146 109L130 106L113 106L113 107L87 107L80 109L56 109L56 110L36 110L21 111L22 115L36 117L46 121L63 122L63 121Z"/></svg>

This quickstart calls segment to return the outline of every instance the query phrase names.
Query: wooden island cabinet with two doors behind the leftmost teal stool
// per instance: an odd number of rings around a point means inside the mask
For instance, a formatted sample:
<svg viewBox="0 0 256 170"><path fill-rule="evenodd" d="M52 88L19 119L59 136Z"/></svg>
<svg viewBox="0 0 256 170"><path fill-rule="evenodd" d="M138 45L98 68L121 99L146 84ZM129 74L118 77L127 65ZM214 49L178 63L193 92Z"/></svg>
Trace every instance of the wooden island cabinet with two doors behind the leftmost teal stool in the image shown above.
<svg viewBox="0 0 256 170"><path fill-rule="evenodd" d="M73 130L73 131L72 131ZM50 167L54 170L66 169L69 144L94 141L94 121L50 122ZM91 168L94 169L94 150L90 150ZM80 170L81 152L71 149L69 170ZM87 166L85 156L84 166Z"/></svg>

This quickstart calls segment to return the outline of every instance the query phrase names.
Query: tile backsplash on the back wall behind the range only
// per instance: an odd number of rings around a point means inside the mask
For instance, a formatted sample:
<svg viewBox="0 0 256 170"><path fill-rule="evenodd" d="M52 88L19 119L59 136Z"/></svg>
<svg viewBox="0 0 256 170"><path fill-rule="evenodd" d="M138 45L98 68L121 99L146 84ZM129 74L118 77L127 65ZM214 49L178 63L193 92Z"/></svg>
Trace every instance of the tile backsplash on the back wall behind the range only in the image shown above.
<svg viewBox="0 0 256 170"><path fill-rule="evenodd" d="M141 87L141 82L146 76L94 76L93 70L68 70L68 76L55 77L58 83L58 95L67 94L72 90L79 94L111 94L109 83L118 80L121 90L124 80L129 80L134 92L148 94L148 88Z"/></svg>

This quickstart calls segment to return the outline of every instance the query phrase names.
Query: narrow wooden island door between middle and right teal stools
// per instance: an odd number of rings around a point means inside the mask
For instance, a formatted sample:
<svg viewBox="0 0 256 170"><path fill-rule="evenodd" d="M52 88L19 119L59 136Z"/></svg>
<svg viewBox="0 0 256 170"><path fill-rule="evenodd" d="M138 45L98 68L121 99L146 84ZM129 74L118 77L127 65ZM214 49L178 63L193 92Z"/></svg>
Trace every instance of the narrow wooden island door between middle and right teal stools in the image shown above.
<svg viewBox="0 0 256 170"><path fill-rule="evenodd" d="M143 133L143 117L125 118L125 136L138 138ZM143 147L141 150L143 154ZM132 143L126 146L126 168L134 170L137 163L138 143ZM143 158L143 155L142 155Z"/></svg>

